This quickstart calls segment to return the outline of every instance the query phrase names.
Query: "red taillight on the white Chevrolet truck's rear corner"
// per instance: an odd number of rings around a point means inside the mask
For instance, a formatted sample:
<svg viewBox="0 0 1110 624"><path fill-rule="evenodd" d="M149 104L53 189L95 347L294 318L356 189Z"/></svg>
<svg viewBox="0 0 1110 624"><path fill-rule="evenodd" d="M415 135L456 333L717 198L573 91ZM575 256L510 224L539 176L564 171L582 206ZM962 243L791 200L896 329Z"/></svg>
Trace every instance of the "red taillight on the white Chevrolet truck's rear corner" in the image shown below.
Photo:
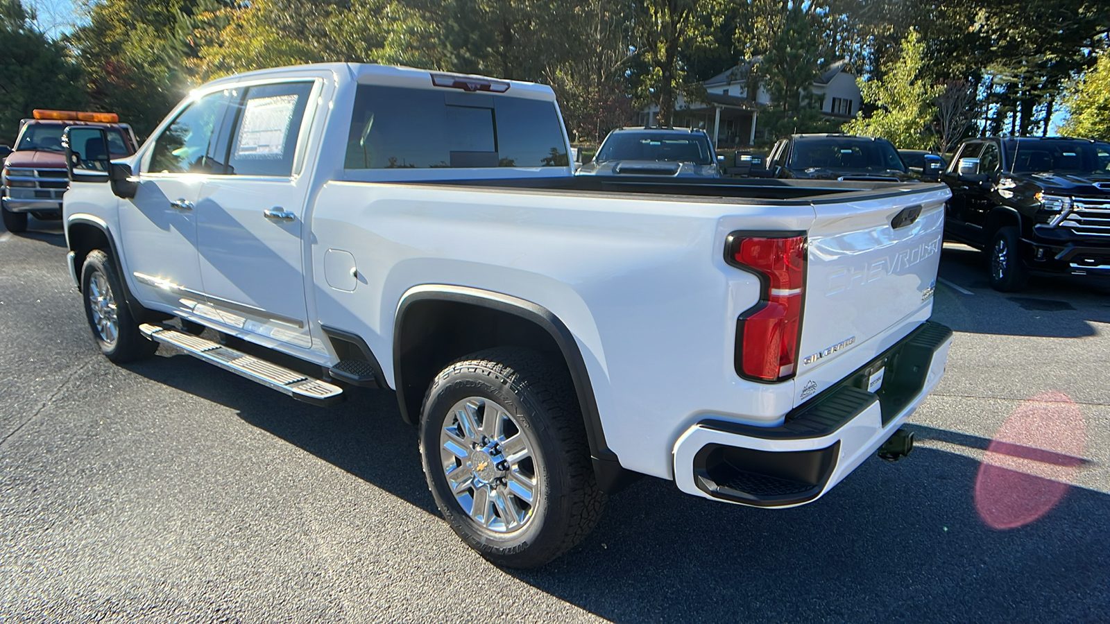
<svg viewBox="0 0 1110 624"><path fill-rule="evenodd" d="M760 301L736 323L736 372L757 381L794 376L801 333L806 238L729 236L729 264L759 275Z"/></svg>

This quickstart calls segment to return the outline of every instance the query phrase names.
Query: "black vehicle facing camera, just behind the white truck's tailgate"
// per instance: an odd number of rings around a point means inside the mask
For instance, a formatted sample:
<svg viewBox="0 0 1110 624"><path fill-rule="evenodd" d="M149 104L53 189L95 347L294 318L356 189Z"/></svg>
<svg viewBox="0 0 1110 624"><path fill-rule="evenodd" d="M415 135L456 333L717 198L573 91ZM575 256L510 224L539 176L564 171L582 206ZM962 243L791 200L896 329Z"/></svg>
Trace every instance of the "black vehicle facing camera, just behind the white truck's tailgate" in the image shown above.
<svg viewBox="0 0 1110 624"><path fill-rule="evenodd" d="M852 134L791 134L767 157L774 178L905 182L912 177L886 139Z"/></svg>

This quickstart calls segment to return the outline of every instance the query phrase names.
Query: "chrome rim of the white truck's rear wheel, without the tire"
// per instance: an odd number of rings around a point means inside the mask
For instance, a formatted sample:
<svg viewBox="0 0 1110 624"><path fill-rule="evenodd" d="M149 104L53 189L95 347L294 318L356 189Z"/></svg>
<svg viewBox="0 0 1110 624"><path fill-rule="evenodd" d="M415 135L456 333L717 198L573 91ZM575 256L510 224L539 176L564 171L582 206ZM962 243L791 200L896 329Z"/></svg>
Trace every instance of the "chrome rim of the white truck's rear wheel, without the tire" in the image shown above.
<svg viewBox="0 0 1110 624"><path fill-rule="evenodd" d="M455 501L498 534L524 529L539 504L536 447L503 406L481 396L455 403L440 431L440 460Z"/></svg>

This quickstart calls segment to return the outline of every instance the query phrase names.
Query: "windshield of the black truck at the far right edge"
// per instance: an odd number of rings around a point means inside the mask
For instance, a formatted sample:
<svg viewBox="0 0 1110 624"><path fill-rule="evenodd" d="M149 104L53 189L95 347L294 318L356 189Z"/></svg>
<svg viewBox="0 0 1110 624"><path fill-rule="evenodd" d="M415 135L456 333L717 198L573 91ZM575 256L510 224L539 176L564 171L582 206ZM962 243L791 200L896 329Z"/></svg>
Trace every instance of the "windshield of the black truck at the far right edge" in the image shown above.
<svg viewBox="0 0 1110 624"><path fill-rule="evenodd" d="M1110 175L1110 144L1073 139L1008 140L1013 173Z"/></svg>

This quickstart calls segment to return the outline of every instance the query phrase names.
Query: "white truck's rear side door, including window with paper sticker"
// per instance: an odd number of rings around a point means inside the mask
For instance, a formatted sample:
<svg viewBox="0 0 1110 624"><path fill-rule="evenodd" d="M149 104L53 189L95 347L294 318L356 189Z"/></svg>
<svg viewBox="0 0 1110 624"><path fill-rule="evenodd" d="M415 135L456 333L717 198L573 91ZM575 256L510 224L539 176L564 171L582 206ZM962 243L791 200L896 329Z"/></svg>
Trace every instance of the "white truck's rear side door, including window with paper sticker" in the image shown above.
<svg viewBox="0 0 1110 624"><path fill-rule="evenodd" d="M222 141L228 174L211 177L196 202L206 315L303 349L312 345L302 258L309 180L293 168L313 87L244 89Z"/></svg>

